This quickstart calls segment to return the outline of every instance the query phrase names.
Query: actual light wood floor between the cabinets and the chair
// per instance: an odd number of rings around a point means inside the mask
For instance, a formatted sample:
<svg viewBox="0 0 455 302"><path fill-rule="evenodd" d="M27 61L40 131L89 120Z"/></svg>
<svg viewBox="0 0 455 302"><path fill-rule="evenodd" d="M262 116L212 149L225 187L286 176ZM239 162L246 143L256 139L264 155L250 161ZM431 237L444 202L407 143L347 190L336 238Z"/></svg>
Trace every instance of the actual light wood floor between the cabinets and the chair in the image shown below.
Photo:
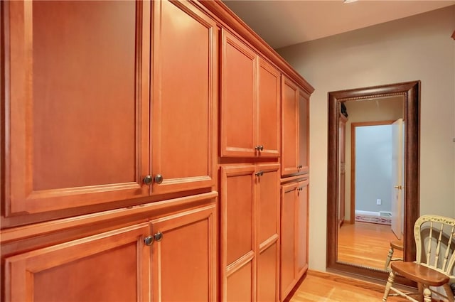
<svg viewBox="0 0 455 302"><path fill-rule="evenodd" d="M385 281L384 281L385 284ZM384 286L366 281L309 270L289 302L369 302L382 301ZM404 302L389 297L387 302Z"/></svg>

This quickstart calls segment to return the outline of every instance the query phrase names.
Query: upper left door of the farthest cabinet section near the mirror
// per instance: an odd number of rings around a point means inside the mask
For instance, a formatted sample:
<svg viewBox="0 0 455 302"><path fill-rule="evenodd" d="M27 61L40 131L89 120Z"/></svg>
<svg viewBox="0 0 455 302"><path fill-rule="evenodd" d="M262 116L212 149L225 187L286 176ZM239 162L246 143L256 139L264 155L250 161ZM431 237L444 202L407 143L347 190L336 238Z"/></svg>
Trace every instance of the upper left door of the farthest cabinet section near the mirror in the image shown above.
<svg viewBox="0 0 455 302"><path fill-rule="evenodd" d="M282 176L299 173L299 87L282 77Z"/></svg>

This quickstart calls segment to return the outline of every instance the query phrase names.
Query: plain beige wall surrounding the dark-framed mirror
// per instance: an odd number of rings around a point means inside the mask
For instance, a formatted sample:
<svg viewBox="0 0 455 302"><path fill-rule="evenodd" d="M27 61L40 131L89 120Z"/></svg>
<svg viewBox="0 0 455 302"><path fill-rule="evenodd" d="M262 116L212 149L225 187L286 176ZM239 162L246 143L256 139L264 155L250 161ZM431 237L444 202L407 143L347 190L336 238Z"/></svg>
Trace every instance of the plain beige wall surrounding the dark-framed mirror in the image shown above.
<svg viewBox="0 0 455 302"><path fill-rule="evenodd" d="M420 214L455 217L455 6L277 50L315 92L310 103L309 266L324 271L327 93L421 80Z"/></svg>

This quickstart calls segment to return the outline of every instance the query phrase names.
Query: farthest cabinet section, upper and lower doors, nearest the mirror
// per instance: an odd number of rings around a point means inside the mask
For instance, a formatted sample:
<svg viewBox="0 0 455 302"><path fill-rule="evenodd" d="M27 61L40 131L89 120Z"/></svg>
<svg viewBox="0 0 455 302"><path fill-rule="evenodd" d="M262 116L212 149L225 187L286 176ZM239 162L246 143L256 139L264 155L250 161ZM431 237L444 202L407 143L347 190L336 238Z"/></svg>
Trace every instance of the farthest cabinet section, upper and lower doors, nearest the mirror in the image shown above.
<svg viewBox="0 0 455 302"><path fill-rule="evenodd" d="M282 77L281 282L284 301L308 269L309 92Z"/></svg>

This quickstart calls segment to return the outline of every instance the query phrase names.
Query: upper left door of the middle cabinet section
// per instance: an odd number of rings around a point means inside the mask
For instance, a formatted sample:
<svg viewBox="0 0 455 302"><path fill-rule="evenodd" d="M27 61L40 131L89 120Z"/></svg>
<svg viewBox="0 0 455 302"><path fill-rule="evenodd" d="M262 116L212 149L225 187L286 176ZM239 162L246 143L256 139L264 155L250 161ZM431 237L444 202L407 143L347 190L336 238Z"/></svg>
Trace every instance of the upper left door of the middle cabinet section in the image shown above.
<svg viewBox="0 0 455 302"><path fill-rule="evenodd" d="M221 32L221 156L254 157L257 155L257 55L228 31Z"/></svg>

